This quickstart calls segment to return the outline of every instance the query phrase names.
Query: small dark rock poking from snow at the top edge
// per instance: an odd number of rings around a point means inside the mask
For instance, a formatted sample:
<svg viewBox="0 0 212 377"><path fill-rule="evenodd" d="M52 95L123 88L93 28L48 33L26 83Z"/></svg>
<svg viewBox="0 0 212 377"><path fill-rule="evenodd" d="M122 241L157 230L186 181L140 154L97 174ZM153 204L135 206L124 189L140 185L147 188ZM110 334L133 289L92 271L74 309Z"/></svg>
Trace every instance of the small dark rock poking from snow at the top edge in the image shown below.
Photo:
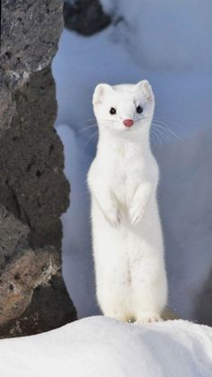
<svg viewBox="0 0 212 377"><path fill-rule="evenodd" d="M110 15L105 14L99 0L65 1L64 19L67 29L83 35L93 35L110 25Z"/></svg>

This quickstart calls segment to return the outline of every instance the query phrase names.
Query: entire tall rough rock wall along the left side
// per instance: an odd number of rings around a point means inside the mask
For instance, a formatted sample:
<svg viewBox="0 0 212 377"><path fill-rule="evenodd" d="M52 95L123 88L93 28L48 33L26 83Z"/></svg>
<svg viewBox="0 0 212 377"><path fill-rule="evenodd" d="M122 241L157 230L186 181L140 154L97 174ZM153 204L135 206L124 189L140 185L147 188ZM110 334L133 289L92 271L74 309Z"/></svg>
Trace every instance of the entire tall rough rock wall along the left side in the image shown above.
<svg viewBox="0 0 212 377"><path fill-rule="evenodd" d="M62 280L60 215L68 206L50 64L62 0L3 0L0 71L0 337L76 317ZM55 277L54 277L55 276Z"/></svg>

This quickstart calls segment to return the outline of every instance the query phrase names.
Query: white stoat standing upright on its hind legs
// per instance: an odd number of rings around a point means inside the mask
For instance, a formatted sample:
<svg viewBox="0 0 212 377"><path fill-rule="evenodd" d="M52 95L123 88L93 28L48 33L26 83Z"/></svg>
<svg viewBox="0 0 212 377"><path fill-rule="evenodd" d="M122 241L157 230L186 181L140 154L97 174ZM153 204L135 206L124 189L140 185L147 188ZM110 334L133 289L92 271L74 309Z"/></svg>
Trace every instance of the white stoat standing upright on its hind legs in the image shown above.
<svg viewBox="0 0 212 377"><path fill-rule="evenodd" d="M159 174L150 148L154 108L146 80L100 84L93 94L99 141L88 185L97 299L105 316L137 323L160 320L167 301Z"/></svg>

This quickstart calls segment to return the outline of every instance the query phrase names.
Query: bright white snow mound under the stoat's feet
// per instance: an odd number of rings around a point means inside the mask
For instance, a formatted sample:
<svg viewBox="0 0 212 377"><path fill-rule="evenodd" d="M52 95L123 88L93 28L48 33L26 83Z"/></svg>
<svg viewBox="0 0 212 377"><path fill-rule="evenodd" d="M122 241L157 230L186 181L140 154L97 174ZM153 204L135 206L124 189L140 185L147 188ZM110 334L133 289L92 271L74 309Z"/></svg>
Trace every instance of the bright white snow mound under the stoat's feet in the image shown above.
<svg viewBox="0 0 212 377"><path fill-rule="evenodd" d="M0 340L3 377L211 377L212 329L174 320L145 326L90 317Z"/></svg>

